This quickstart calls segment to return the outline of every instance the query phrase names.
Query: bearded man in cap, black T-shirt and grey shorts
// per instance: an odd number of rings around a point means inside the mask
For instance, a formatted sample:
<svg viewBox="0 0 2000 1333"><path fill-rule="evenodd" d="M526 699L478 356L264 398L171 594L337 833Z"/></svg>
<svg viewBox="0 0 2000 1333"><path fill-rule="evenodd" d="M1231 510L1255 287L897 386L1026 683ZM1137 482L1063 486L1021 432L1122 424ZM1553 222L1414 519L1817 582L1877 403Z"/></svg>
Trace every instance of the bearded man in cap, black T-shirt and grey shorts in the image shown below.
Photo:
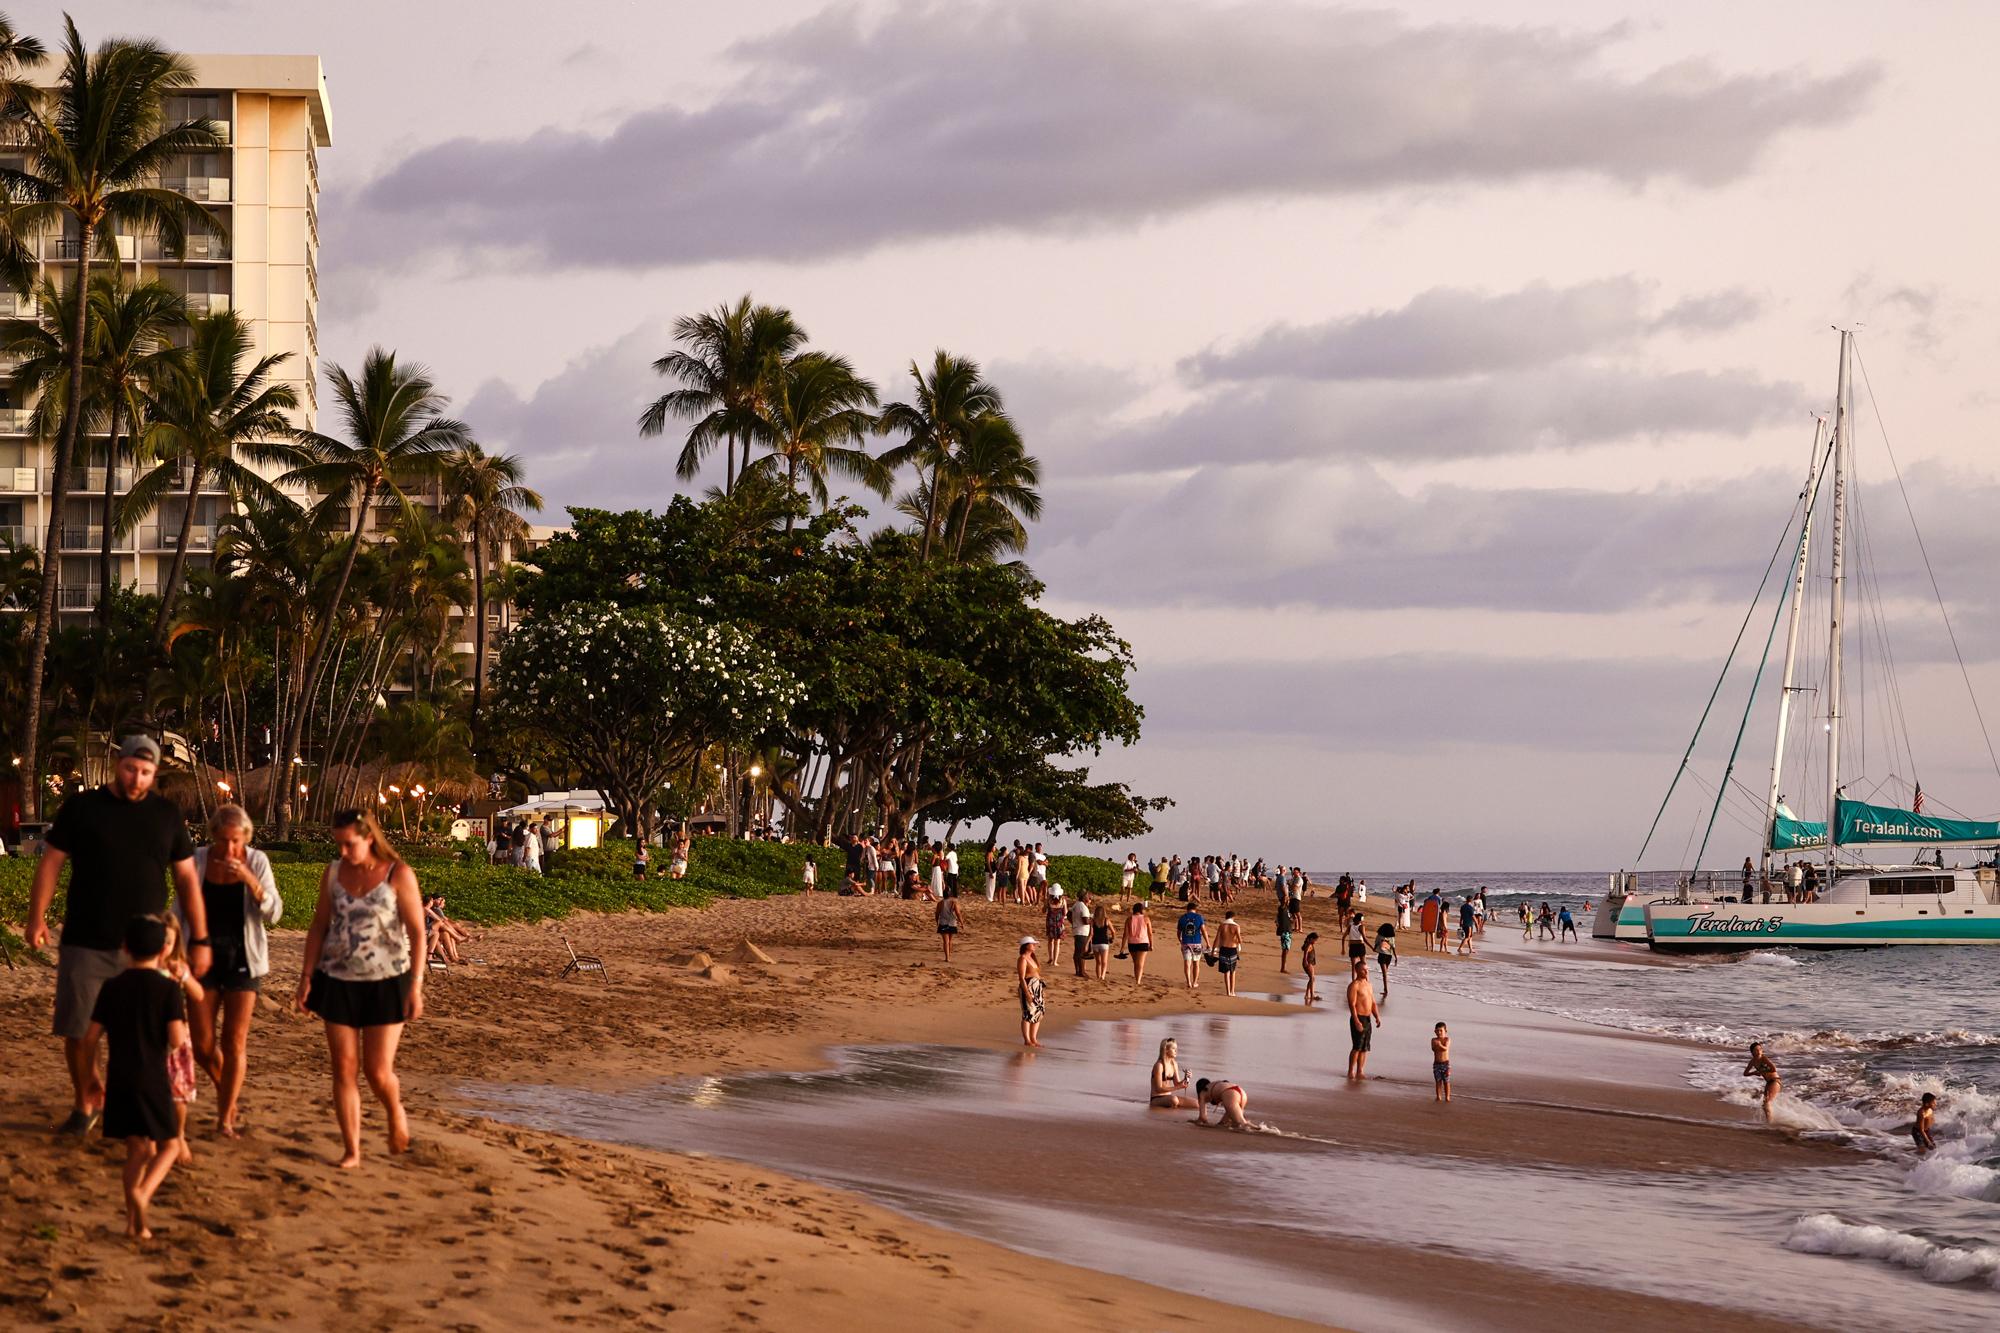
<svg viewBox="0 0 2000 1333"><path fill-rule="evenodd" d="M62 803L42 841L42 861L34 867L26 941L30 949L42 949L56 879L70 863L70 895L56 951L54 1033L62 1037L76 1105L58 1133L88 1135L104 1113L98 1047L86 1039L90 1011L96 1009L98 989L126 967L120 941L132 917L166 911L168 873L188 921L188 971L196 977L208 973L208 909L194 875L194 843L180 807L152 791L158 771L160 747L152 737L126 737L110 785Z"/></svg>

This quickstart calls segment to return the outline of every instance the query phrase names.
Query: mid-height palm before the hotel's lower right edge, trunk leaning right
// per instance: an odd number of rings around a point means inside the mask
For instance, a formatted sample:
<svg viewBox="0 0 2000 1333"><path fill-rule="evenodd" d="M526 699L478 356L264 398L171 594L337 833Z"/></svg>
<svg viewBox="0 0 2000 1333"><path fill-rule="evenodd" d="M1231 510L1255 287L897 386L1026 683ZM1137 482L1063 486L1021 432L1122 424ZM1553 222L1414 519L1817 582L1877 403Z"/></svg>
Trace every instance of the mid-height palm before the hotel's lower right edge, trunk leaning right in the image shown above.
<svg viewBox="0 0 2000 1333"><path fill-rule="evenodd" d="M300 460L298 448L288 444L292 422L286 418L286 412L298 408L298 394L290 384L270 380L290 352L274 352L246 366L256 344L250 326L234 310L198 314L188 326L188 346L162 376L150 398L154 420L140 432L140 452L160 462L132 482L118 516L120 532L130 532L168 492L174 474L188 470L180 538L174 542L166 582L160 584L160 610L152 624L152 638L162 646L174 622L202 482L220 478L230 494L274 506L284 500L284 492L244 466L242 458L266 466Z"/></svg>

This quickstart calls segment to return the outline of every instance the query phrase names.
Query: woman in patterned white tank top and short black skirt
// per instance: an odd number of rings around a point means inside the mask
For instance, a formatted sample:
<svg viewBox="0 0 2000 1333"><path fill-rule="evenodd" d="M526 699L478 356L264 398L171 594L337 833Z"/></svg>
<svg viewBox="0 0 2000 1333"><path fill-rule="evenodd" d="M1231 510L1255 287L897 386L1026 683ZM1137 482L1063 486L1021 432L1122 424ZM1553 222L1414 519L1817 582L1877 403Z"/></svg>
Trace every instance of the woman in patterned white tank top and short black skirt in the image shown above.
<svg viewBox="0 0 2000 1333"><path fill-rule="evenodd" d="M416 873L396 857L374 815L334 815L338 859L320 881L298 979L300 1013L326 1021L334 1067L334 1119L342 1167L362 1161L362 1093L356 1073L388 1113L388 1151L410 1147L396 1083L402 1025L424 1017L424 899Z"/></svg>

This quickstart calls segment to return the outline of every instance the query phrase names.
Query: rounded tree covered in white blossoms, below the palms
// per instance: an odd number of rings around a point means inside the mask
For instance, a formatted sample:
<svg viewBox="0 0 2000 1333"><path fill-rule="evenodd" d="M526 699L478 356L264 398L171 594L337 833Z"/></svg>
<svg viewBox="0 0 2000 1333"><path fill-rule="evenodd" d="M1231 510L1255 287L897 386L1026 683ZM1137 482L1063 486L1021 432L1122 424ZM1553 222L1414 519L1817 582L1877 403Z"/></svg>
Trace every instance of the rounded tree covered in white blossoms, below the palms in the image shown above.
<svg viewBox="0 0 2000 1333"><path fill-rule="evenodd" d="M514 630L494 695L506 723L598 785L636 837L712 745L750 741L804 691L744 628L658 606L568 606Z"/></svg>

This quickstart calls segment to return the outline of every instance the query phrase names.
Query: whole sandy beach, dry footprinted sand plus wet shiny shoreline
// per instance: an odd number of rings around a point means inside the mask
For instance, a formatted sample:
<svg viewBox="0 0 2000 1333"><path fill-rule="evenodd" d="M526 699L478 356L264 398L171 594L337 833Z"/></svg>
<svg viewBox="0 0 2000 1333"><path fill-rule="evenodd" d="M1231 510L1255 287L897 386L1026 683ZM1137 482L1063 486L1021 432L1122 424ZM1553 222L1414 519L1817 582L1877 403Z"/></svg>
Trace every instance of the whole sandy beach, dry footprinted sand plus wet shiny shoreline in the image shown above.
<svg viewBox="0 0 2000 1333"><path fill-rule="evenodd" d="M1302 925L1338 939L1330 913L1308 899ZM1012 947L1030 915L966 901L950 965L926 905L826 893L488 927L470 947L486 963L436 977L408 1029L416 1149L358 1175L326 1165L318 1033L260 1013L244 1157L170 1177L146 1251L110 1225L114 1169L76 1171L108 1149L50 1149L46 981L4 973L0 1041L24 1075L0 1093L6 1241L30 1259L6 1297L78 1325L156 1309L156 1291L222 1323L328 1301L394 1323L418 1315L380 1293L414 1275L436 1293L420 1317L490 1325L668 1305L824 1321L830 1291L878 1319L948 1307L1000 1327L1034 1289L1050 1327L1104 1327L1098 1301L1140 1327L1222 1301L1246 1327L1544 1327L1560 1303L1660 1329L1844 1327L1844 1309L1908 1301L1932 1327L1976 1327L1990 1299L1788 1247L1816 1201L1888 1207L1894 1181L1868 1151L1690 1087L1716 1047L1520 1007L1636 971L1602 947L1514 945L1500 925L1480 961L1406 953L1378 1079L1350 1087L1342 1015L1306 1013L1254 927L1236 999L1212 973L1190 997L1172 975L1136 991L1046 969L1046 1049L1020 1055ZM608 979L556 981L558 931ZM272 933L274 975L296 977L298 949ZM1436 1021L1450 1107L1430 1101ZM1146 1111L1166 1035L1188 1075L1244 1085L1272 1133ZM396 1245L356 1253L354 1209L382 1209Z"/></svg>

